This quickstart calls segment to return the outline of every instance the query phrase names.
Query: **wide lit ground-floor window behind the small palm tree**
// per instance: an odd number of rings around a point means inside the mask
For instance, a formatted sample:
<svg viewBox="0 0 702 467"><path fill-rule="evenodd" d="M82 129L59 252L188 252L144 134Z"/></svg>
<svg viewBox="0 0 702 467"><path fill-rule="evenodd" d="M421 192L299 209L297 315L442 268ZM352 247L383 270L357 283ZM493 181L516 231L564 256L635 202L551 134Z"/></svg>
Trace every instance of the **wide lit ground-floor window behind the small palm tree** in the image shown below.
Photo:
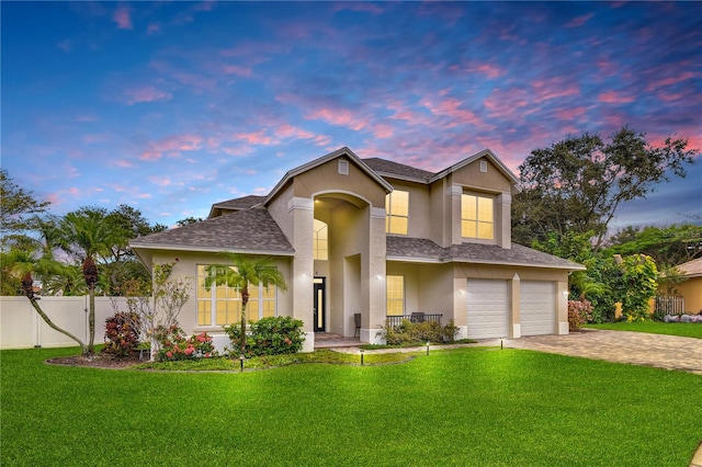
<svg viewBox="0 0 702 467"><path fill-rule="evenodd" d="M241 321L241 293L226 285L205 287L206 265L197 266L197 326L225 326ZM276 289L249 285L247 321L275 316Z"/></svg>

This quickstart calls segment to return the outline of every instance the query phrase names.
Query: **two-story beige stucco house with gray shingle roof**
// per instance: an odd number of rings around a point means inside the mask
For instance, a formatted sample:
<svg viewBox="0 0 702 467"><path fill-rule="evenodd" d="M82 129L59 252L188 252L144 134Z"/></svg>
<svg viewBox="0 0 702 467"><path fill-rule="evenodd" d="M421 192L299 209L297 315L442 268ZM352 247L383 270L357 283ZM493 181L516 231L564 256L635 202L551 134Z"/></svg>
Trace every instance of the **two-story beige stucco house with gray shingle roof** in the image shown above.
<svg viewBox="0 0 702 467"><path fill-rule="evenodd" d="M239 321L240 296L207 289L220 251L265 255L287 291L252 287L249 319L293 316L315 333L380 342L388 316L453 319L460 337L568 332L568 274L584 266L511 242L518 179L489 150L439 172L341 148L288 171L268 196L212 206L201 223L136 239L150 267L173 262L194 293L179 317L186 332L222 333Z"/></svg>

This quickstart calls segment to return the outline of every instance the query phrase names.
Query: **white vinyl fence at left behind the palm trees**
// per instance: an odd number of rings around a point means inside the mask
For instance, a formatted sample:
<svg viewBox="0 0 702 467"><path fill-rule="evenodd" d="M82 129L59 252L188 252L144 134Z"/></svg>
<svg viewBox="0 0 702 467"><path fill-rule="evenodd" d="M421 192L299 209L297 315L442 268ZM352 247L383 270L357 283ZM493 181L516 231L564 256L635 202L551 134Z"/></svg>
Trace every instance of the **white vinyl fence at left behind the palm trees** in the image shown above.
<svg viewBox="0 0 702 467"><path fill-rule="evenodd" d="M120 311L126 311L125 299L115 299ZM38 304L56 326L88 344L88 296L41 297ZM95 344L104 342L105 319L114 312L110 297L95 297ZM26 297L0 297L0 349L73 345L76 341L44 322Z"/></svg>

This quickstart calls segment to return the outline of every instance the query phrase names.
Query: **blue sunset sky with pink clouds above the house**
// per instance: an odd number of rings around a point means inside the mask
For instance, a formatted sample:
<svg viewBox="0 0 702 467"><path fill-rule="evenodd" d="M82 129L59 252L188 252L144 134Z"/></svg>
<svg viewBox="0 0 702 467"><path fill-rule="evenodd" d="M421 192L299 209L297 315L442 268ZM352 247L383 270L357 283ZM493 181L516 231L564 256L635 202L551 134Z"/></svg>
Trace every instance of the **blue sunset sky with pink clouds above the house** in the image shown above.
<svg viewBox="0 0 702 467"><path fill-rule="evenodd" d="M1 166L54 214L173 226L343 146L431 171L489 148L517 173L623 125L702 149L702 2L0 8ZM697 159L614 227L702 215Z"/></svg>

